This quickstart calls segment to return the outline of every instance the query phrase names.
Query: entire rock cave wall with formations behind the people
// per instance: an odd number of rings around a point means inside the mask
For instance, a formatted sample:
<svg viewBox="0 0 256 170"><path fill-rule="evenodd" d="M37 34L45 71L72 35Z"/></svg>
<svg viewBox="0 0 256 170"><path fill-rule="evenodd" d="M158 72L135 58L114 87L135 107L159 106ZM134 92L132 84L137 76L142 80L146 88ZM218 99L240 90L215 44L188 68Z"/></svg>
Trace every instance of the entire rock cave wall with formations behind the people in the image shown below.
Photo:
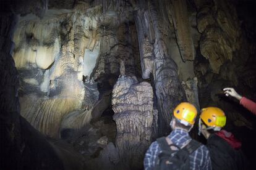
<svg viewBox="0 0 256 170"><path fill-rule="evenodd" d="M222 108L252 162L255 118L222 89L256 100L255 7L1 1L0 169L143 169L180 102Z"/></svg>

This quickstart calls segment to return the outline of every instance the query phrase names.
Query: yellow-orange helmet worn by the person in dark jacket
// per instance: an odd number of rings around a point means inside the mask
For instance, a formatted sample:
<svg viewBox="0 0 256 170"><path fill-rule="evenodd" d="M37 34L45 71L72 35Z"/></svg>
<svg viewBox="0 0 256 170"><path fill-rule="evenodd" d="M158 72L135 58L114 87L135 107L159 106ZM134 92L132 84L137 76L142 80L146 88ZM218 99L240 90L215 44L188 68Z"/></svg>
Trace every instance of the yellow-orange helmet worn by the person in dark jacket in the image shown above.
<svg viewBox="0 0 256 170"><path fill-rule="evenodd" d="M210 127L223 127L226 124L225 113L218 107L203 108L200 119Z"/></svg>

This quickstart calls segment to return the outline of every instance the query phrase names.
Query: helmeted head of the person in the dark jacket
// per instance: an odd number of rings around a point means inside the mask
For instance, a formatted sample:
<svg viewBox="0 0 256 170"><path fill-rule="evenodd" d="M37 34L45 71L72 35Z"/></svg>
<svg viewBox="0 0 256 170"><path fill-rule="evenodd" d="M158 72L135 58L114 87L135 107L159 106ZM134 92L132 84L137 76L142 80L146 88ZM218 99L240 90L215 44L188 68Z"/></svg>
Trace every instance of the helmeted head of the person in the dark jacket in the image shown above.
<svg viewBox="0 0 256 170"><path fill-rule="evenodd" d="M198 135L208 138L211 133L220 131L226 124L226 116L218 107L207 107L201 110L198 121Z"/></svg>

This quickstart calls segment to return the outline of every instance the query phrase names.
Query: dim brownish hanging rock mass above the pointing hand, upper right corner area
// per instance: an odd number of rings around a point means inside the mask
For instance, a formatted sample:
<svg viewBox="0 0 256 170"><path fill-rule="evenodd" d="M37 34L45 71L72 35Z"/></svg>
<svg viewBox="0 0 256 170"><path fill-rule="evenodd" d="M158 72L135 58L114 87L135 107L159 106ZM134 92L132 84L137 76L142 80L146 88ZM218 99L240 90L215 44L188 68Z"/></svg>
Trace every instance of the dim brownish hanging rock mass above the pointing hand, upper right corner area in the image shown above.
<svg viewBox="0 0 256 170"><path fill-rule="evenodd" d="M202 33L200 51L209 60L213 73L219 73L221 65L233 59L233 52L241 43L241 30L233 8L229 2L214 1L214 5L201 4L197 14L197 28Z"/></svg>

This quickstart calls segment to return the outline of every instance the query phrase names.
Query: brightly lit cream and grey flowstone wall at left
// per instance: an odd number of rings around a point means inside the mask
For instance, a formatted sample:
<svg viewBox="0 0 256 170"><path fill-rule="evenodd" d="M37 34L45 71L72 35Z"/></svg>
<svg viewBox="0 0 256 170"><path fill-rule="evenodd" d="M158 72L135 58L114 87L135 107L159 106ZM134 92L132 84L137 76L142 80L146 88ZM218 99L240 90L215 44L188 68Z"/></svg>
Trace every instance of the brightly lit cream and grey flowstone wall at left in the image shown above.
<svg viewBox="0 0 256 170"><path fill-rule="evenodd" d="M21 75L21 115L47 136L79 129L110 107L121 60L128 75L140 74L137 33L126 12L130 6L113 12L110 4L78 2L74 10L48 10L42 20L20 19L13 55ZM100 98L98 89L92 90L95 81L103 86Z"/></svg>

